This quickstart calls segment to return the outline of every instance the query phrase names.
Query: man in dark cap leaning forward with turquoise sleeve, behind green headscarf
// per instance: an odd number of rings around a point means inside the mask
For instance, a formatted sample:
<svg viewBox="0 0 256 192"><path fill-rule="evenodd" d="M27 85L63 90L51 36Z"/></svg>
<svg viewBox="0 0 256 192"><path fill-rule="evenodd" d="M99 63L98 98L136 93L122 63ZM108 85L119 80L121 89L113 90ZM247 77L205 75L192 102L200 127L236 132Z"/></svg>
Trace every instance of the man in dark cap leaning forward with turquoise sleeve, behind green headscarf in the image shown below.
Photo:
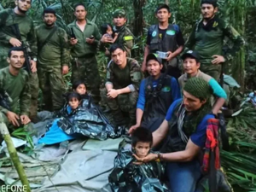
<svg viewBox="0 0 256 192"><path fill-rule="evenodd" d="M182 59L184 74L178 79L178 84L181 90L183 90L184 85L190 78L201 78L206 80L212 87L213 96L218 97L212 107L212 113L217 114L218 110L224 105L224 102L227 99L227 94L215 79L199 70L201 64L199 62L199 56L195 51L187 51L182 55Z"/></svg>

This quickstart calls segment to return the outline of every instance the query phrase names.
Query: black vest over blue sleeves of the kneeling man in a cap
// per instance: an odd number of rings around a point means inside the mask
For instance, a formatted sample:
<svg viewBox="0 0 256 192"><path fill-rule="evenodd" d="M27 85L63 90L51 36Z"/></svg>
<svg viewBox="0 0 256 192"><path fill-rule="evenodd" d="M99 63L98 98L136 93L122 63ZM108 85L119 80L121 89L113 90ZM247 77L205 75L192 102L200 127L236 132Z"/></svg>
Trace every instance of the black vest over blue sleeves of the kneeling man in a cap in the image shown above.
<svg viewBox="0 0 256 192"><path fill-rule="evenodd" d="M153 118L165 118L168 108L173 102L172 77L161 74L156 87L153 87L152 77L145 79L145 108L143 121Z"/></svg>

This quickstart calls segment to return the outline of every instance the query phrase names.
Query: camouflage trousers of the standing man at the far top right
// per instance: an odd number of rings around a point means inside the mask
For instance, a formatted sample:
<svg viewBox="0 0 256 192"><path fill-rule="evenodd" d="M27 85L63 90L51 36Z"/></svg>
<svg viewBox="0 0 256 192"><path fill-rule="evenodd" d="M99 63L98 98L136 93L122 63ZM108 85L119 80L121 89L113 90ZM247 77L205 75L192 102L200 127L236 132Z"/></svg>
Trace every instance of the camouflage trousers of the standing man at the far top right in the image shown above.
<svg viewBox="0 0 256 192"><path fill-rule="evenodd" d="M221 64L213 65L212 63L201 63L200 70L218 81L221 73Z"/></svg>

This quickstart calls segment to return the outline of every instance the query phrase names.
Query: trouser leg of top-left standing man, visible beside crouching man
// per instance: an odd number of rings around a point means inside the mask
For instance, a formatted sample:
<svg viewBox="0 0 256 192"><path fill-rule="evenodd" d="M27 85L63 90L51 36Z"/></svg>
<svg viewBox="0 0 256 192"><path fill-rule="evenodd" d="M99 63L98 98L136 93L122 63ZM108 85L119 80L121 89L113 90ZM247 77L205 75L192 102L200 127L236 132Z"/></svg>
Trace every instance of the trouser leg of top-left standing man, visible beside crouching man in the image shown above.
<svg viewBox="0 0 256 192"><path fill-rule="evenodd" d="M38 83L38 73L29 74L28 84L30 87L31 93L31 106L30 106L30 118L34 118L38 113L38 91L39 91L39 83Z"/></svg>

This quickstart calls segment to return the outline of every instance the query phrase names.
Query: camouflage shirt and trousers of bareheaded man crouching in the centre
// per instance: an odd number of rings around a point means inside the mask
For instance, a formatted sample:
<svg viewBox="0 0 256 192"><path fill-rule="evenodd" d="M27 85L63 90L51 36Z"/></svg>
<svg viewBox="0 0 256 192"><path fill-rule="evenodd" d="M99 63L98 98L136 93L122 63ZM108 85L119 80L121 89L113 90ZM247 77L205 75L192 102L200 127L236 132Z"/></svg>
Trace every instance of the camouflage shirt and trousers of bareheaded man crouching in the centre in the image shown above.
<svg viewBox="0 0 256 192"><path fill-rule="evenodd" d="M129 114L129 126L136 123L136 104L141 79L140 66L136 60L127 58L127 64L123 69L119 69L118 65L111 61L108 67L106 84L113 84L114 90L125 87L129 87L131 90L130 93L120 94L115 99L108 98L107 90L104 90L104 99L111 109L117 125L124 124L123 112Z"/></svg>

